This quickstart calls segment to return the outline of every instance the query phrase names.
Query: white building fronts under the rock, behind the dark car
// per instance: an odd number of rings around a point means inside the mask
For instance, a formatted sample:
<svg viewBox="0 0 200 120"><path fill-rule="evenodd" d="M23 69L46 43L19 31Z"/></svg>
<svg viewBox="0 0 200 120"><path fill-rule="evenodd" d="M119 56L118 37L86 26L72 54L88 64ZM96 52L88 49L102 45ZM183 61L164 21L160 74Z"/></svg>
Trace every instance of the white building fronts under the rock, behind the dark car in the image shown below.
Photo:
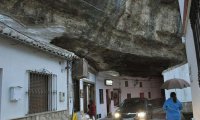
<svg viewBox="0 0 200 120"><path fill-rule="evenodd" d="M112 86L105 85L105 80L113 80ZM118 108L119 104L127 98L142 97L161 105L163 100L160 78L119 77L109 78L97 76L96 80L96 105L97 118L105 118ZM102 98L103 96L103 98Z"/></svg>

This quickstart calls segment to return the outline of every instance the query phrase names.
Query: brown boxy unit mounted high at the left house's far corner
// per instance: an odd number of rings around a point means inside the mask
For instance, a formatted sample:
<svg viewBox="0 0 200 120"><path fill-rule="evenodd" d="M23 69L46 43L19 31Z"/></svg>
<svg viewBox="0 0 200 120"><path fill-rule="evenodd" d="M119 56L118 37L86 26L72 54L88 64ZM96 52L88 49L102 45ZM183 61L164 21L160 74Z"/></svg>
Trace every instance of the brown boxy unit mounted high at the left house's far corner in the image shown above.
<svg viewBox="0 0 200 120"><path fill-rule="evenodd" d="M81 79L88 77L88 62L84 58L74 61L72 65L73 79Z"/></svg>

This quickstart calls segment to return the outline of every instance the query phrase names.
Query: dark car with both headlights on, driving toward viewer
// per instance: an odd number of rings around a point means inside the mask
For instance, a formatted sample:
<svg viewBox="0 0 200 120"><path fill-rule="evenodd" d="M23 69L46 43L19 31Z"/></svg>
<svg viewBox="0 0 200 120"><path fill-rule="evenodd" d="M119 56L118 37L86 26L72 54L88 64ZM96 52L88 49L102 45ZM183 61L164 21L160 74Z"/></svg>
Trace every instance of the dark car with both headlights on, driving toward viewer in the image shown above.
<svg viewBox="0 0 200 120"><path fill-rule="evenodd" d="M114 120L149 120L152 105L146 98L125 99L114 113Z"/></svg>

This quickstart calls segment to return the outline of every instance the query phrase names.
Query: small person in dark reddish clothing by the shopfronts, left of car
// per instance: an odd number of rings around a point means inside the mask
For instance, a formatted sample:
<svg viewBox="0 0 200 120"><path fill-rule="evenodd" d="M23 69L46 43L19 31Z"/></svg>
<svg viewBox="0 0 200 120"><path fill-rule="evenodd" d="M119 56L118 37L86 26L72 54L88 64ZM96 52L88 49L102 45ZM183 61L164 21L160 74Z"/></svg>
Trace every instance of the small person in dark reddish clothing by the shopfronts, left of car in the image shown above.
<svg viewBox="0 0 200 120"><path fill-rule="evenodd" d="M96 105L94 104L93 100L90 100L90 103L88 105L88 114L91 119L95 119L96 115Z"/></svg>

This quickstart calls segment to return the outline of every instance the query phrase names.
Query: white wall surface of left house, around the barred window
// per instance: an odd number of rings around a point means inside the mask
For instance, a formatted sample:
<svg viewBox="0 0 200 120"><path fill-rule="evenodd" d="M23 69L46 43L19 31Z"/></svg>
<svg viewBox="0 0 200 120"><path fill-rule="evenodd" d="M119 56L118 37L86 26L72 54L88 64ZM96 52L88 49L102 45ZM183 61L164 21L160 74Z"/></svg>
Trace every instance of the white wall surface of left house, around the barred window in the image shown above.
<svg viewBox="0 0 200 120"><path fill-rule="evenodd" d="M57 75L57 92L67 96L66 71L59 64L63 62L55 56L48 55L37 49L30 49L23 44L0 38L0 68L3 70L1 120L23 117L28 113L28 72L27 70L46 69ZM21 86L21 100L10 102L9 88ZM67 100L59 102L57 94L57 110L66 110ZM5 110L6 108L6 110Z"/></svg>

